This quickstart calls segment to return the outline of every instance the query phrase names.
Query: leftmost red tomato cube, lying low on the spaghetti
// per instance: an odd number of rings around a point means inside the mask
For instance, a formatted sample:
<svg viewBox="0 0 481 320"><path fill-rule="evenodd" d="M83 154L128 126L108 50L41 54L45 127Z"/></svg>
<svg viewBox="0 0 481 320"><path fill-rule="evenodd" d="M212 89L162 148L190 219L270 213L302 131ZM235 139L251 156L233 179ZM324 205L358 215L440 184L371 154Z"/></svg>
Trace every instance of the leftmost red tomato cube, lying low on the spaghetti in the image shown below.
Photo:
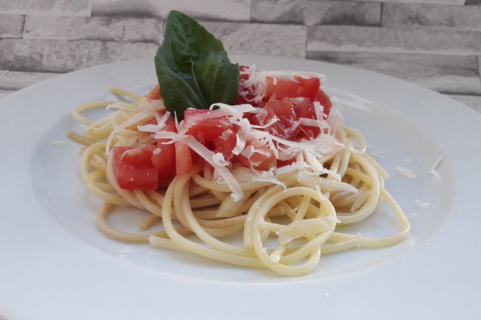
<svg viewBox="0 0 481 320"><path fill-rule="evenodd" d="M115 178L121 188L151 190L159 187L159 170L153 167L150 159L154 149L155 145L112 148Z"/></svg>

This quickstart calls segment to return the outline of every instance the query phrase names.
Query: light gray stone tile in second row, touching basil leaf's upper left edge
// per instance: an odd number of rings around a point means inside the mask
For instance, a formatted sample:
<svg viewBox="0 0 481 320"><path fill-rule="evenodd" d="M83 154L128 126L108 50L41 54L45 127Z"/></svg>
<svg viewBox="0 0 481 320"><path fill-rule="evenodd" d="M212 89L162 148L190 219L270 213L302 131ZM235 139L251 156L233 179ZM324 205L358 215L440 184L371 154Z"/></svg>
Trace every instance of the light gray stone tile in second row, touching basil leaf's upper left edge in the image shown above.
<svg viewBox="0 0 481 320"><path fill-rule="evenodd" d="M28 15L24 27L24 38L159 42L161 37L162 20L156 18Z"/></svg>

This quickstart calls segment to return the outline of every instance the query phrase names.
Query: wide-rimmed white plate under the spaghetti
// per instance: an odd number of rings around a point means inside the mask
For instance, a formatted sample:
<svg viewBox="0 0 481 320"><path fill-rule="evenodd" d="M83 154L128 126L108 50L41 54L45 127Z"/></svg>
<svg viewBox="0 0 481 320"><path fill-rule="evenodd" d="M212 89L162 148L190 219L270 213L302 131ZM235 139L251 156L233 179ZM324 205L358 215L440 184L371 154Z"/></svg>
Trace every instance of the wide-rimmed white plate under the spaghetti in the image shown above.
<svg viewBox="0 0 481 320"><path fill-rule="evenodd" d="M65 137L79 129L70 111L107 96L108 84L145 92L155 73L151 59L101 65L0 100L0 318L477 316L481 115L417 85L351 67L232 60L325 73L328 93L346 104L347 123L365 134L370 151L386 152L377 159L391 173L386 185L409 216L410 236L388 248L323 256L315 271L296 278L105 237L95 226L101 201L80 178L79 145ZM428 170L440 155L443 179L436 181ZM418 177L407 179L396 166ZM420 208L418 201L431 205ZM396 227L381 206L350 231L380 235ZM124 246L134 253L122 253Z"/></svg>

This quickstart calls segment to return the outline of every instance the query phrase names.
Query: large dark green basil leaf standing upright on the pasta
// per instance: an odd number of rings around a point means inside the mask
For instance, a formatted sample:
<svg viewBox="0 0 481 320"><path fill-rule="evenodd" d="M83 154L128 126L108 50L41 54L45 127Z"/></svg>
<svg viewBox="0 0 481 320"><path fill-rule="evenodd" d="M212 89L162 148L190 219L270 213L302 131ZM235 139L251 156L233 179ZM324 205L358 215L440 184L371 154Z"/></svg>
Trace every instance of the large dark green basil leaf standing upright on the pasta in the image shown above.
<svg viewBox="0 0 481 320"><path fill-rule="evenodd" d="M179 120L188 107L233 103L238 64L230 63L222 42L189 16L170 11L154 61L165 107Z"/></svg>

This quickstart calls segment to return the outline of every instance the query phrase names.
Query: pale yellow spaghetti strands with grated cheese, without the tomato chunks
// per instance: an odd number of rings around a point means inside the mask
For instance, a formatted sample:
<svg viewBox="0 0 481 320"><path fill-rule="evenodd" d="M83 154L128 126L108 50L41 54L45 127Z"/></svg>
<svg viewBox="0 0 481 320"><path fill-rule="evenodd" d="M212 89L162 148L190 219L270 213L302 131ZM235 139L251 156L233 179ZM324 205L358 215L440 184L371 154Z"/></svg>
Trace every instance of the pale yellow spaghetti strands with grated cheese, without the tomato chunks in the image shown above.
<svg viewBox="0 0 481 320"><path fill-rule="evenodd" d="M160 127L168 113L162 100L149 100L114 87L110 90L138 101L80 105L72 115L87 126L85 135L71 131L68 135L86 145L81 156L81 175L87 188L105 201L97 225L114 239L149 242L156 247L297 276L313 270L322 254L355 247L389 246L408 235L405 214L384 188L387 173L365 153L364 137L343 123L340 105L334 98L329 119L323 119L318 112L315 120L299 121L317 125L319 136L295 141L266 130L275 121L246 124L249 123L243 120L246 114L262 117L259 108L219 104L218 109L211 110L240 127L233 149L238 149L237 154L252 160L255 152L262 153L252 143L246 143L246 135L250 135L264 141L266 150L278 160L285 160L286 154L295 157L290 164L280 166L274 162L269 168L260 169L253 160L250 167L229 161L185 130L182 132L182 123L187 120L175 123L178 132L162 131ZM117 110L96 121L81 115L87 109L103 107ZM152 118L157 123L147 123ZM155 145L156 139L162 139L163 145L184 143L200 154L203 161L194 163L189 172L173 176L165 187L148 190L120 187L116 177L117 158L112 149ZM356 223L370 216L382 200L399 220L395 234L369 238L336 231L337 225ZM139 228L147 230L162 223L164 230L139 233L116 230L107 222L107 216L116 206L146 210L150 216ZM231 244L225 240L227 235L242 239L242 245Z"/></svg>

